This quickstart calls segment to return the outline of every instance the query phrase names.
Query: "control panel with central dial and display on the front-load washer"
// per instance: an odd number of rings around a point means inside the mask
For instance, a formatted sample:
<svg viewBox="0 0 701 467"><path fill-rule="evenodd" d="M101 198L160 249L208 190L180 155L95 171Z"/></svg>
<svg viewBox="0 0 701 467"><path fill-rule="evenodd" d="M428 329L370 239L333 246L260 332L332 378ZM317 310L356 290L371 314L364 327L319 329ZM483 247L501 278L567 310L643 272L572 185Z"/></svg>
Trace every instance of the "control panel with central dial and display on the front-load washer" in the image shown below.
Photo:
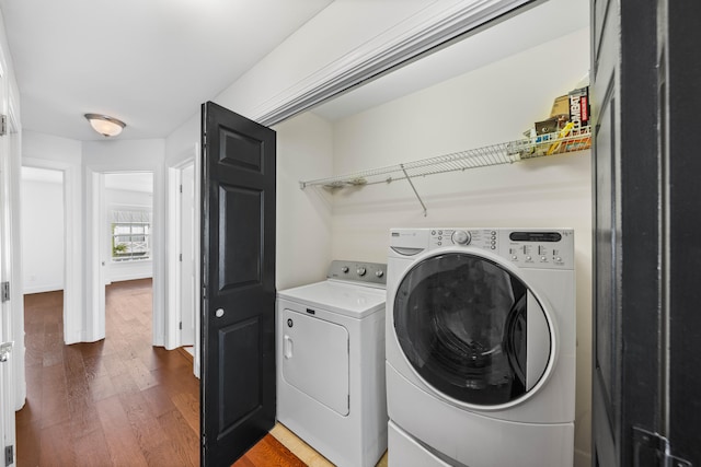
<svg viewBox="0 0 701 467"><path fill-rule="evenodd" d="M522 268L574 269L573 230L429 229L429 248L471 246Z"/></svg>

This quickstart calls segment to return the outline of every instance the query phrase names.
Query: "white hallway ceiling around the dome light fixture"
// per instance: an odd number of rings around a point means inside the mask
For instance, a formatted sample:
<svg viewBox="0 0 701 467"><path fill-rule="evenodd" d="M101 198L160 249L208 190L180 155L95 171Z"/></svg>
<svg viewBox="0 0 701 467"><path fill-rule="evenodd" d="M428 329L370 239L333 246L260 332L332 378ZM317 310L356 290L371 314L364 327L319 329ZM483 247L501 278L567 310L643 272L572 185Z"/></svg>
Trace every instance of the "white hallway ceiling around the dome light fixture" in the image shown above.
<svg viewBox="0 0 701 467"><path fill-rule="evenodd" d="M164 138L332 1L0 0L23 129Z"/></svg>

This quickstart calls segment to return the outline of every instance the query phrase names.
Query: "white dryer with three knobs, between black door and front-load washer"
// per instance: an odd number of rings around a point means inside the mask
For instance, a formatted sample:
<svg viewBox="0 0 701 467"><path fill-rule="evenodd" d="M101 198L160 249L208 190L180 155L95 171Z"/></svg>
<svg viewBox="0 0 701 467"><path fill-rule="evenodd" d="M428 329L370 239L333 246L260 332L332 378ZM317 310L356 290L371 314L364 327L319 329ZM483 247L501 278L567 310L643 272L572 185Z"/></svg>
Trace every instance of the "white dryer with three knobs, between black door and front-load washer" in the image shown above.
<svg viewBox="0 0 701 467"><path fill-rule="evenodd" d="M386 269L334 260L325 281L277 294L277 419L340 467L387 451Z"/></svg>

